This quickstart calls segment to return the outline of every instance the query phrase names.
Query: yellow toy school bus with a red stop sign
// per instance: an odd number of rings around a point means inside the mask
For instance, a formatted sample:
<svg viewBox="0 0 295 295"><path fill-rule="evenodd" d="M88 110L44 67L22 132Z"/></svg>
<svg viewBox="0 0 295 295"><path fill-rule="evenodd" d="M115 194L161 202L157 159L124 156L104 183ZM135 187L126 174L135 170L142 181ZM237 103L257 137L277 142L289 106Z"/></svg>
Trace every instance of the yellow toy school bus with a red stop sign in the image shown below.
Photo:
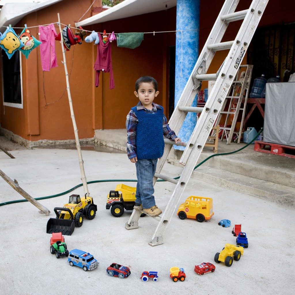
<svg viewBox="0 0 295 295"><path fill-rule="evenodd" d="M178 208L180 219L193 218L199 222L209 220L213 215L213 200L211 198L189 196Z"/></svg>

